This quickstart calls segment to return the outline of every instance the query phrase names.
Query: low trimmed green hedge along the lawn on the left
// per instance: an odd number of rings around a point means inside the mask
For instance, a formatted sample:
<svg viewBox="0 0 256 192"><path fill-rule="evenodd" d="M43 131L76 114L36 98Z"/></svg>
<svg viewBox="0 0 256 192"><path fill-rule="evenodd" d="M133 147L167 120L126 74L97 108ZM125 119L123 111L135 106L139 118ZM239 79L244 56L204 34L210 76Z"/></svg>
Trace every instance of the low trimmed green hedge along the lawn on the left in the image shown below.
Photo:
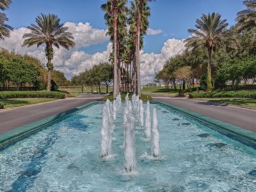
<svg viewBox="0 0 256 192"><path fill-rule="evenodd" d="M55 98L64 99L65 94L57 91L1 91L0 99L12 98Z"/></svg>

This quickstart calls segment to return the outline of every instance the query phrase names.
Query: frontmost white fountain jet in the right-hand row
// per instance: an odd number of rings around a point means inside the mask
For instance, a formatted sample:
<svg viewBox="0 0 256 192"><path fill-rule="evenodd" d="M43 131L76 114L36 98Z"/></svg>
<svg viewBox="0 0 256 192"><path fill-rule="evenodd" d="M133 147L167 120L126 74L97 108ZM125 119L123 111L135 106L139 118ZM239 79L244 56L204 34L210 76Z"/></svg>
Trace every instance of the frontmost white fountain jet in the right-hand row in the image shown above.
<svg viewBox="0 0 256 192"><path fill-rule="evenodd" d="M153 109L153 121L151 129L151 155L153 157L158 157L160 155L158 117L156 108Z"/></svg>

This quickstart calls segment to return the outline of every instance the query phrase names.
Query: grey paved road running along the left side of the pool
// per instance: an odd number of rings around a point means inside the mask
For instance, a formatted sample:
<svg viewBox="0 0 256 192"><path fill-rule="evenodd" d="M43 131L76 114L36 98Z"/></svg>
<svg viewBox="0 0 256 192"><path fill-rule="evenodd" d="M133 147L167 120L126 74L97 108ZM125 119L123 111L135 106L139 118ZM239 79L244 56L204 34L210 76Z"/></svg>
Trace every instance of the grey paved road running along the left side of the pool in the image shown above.
<svg viewBox="0 0 256 192"><path fill-rule="evenodd" d="M105 96L105 94L82 94L79 98L68 98L6 111L0 110L0 133L59 114L91 101L101 100Z"/></svg>

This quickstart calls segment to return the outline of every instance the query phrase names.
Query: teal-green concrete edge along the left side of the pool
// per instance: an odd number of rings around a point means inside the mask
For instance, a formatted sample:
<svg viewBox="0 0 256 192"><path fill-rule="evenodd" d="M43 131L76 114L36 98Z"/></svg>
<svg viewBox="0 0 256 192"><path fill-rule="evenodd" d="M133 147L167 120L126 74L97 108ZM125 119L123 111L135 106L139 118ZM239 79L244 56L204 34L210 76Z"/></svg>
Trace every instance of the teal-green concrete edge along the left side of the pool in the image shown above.
<svg viewBox="0 0 256 192"><path fill-rule="evenodd" d="M86 103L82 106L64 111L62 113L49 116L47 118L41 119L39 121L29 123L27 125L20 126L16 129L0 133L0 150L4 149L6 146L8 146L10 143L16 142L23 137L26 137L27 135L30 135L36 131L39 131L43 129L47 125L51 125L53 123L57 123L61 121L64 118L69 117L70 115L73 115L75 112L88 108L92 105L102 103L102 101L92 101L89 103Z"/></svg>

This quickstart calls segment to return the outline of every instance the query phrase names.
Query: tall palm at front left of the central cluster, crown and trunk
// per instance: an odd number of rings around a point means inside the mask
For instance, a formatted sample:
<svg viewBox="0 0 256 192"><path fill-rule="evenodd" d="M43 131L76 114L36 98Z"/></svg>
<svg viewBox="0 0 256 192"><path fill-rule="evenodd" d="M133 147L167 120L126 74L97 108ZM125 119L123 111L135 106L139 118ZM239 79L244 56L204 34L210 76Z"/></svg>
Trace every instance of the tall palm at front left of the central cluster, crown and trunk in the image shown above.
<svg viewBox="0 0 256 192"><path fill-rule="evenodd" d="M127 0L107 0L101 5L101 9L105 11L104 19L108 26L107 35L110 35L110 41L113 42L114 51L114 87L113 97L116 98L120 91L121 71L120 71L120 46L123 38L124 29L126 28L126 5ZM125 29L126 31L126 29Z"/></svg>

